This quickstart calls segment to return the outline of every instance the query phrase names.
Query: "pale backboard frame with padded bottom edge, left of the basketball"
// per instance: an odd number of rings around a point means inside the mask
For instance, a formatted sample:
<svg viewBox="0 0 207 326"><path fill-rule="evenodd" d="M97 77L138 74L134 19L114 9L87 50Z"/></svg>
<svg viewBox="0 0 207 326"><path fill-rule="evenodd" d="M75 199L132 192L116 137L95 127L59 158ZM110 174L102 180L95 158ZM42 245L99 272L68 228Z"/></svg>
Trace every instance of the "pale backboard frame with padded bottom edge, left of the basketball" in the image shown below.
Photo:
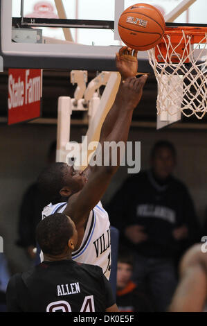
<svg viewBox="0 0 207 326"><path fill-rule="evenodd" d="M116 11L123 1L115 0ZM118 2L120 1L120 3ZM119 3L119 4L118 4ZM0 55L3 57L4 68L33 69L80 69L91 71L116 71L115 54L120 46L91 46L73 44L18 44L12 42L12 0L0 0ZM122 8L119 8L121 11ZM117 22L114 22L116 26ZM116 27L115 27L116 28ZM8 31L8 33L3 33ZM35 58L35 60L34 60ZM151 70L146 53L141 53L142 61L139 72Z"/></svg>

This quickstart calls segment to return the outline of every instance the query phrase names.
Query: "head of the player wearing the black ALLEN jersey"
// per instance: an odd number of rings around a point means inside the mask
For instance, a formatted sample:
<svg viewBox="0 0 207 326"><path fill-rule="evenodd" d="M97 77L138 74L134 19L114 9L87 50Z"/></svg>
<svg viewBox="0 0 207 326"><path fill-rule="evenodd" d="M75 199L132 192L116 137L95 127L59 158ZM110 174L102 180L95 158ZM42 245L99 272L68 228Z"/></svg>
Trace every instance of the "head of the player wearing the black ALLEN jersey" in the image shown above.
<svg viewBox="0 0 207 326"><path fill-rule="evenodd" d="M69 216L55 213L37 224L36 239L44 256L70 257L78 241L78 232Z"/></svg>

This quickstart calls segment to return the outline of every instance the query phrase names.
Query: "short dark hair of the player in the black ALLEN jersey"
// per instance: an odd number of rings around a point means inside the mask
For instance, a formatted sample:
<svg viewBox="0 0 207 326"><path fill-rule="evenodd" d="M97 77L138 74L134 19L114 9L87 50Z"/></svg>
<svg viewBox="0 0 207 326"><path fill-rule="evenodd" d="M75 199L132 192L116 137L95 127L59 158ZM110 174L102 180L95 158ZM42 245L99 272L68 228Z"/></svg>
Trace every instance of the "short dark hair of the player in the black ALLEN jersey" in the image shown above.
<svg viewBox="0 0 207 326"><path fill-rule="evenodd" d="M60 255L73 236L73 225L62 213L46 216L37 224L36 239L44 254Z"/></svg>

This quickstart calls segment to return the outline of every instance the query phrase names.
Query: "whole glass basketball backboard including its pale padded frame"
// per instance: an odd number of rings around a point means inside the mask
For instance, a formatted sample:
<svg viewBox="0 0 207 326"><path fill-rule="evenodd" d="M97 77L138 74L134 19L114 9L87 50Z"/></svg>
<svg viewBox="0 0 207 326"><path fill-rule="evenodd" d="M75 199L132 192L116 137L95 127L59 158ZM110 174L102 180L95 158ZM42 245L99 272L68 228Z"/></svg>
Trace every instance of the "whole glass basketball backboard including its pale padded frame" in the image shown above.
<svg viewBox="0 0 207 326"><path fill-rule="evenodd" d="M137 2L1 0L1 53L5 57L4 65L17 68L114 70L114 55L123 45L118 35L118 19L123 10ZM167 22L206 23L204 0L140 2L159 8ZM31 31L27 31L27 28ZM152 72L145 51L138 53L138 60L140 72Z"/></svg>

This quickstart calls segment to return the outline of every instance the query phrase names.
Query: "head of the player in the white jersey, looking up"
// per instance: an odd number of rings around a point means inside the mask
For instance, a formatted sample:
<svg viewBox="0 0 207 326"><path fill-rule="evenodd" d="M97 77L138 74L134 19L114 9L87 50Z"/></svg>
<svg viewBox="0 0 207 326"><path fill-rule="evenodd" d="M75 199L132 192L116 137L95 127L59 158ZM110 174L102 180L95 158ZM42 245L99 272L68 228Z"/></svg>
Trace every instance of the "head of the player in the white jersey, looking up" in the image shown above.
<svg viewBox="0 0 207 326"><path fill-rule="evenodd" d="M87 179L82 171L75 171L73 166L56 162L40 173L37 180L39 191L51 203L59 203L80 191Z"/></svg>

